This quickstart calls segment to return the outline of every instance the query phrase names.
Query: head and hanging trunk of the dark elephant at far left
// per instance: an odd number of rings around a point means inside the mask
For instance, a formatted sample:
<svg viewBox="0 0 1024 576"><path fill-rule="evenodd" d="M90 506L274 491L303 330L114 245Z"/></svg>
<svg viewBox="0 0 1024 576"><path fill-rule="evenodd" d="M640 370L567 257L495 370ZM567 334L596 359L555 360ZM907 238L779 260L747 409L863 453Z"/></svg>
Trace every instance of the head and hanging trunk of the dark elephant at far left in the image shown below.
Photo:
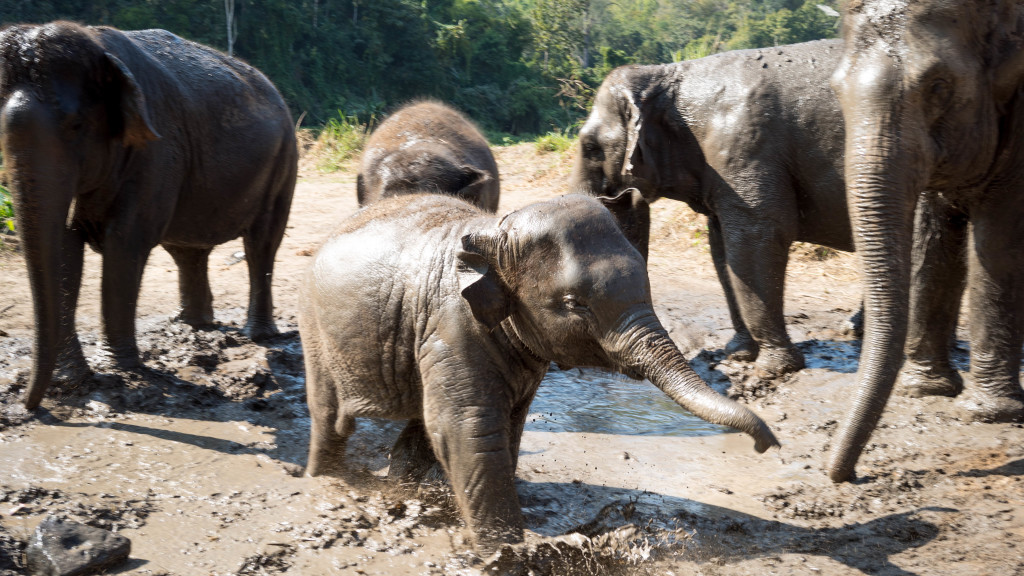
<svg viewBox="0 0 1024 576"><path fill-rule="evenodd" d="M36 321L30 408L49 385L57 351L74 337L67 299L78 293L83 249L73 225L76 199L102 190L126 151L160 137L135 77L100 34L59 22L0 33L0 147Z"/></svg>

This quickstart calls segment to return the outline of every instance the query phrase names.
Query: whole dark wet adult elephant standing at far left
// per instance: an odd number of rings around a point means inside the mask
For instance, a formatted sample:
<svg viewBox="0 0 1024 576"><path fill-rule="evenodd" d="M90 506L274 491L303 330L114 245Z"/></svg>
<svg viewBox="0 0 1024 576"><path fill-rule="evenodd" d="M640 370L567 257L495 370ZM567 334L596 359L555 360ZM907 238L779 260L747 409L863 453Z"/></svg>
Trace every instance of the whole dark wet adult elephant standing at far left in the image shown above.
<svg viewBox="0 0 1024 576"><path fill-rule="evenodd" d="M135 305L150 251L178 265L181 320L213 321L207 259L242 236L246 331L276 333L273 257L297 151L291 115L252 67L162 30L57 22L0 33L0 146L35 308L35 408L60 366L88 373L75 332L85 243L103 255L106 343L138 364Z"/></svg>

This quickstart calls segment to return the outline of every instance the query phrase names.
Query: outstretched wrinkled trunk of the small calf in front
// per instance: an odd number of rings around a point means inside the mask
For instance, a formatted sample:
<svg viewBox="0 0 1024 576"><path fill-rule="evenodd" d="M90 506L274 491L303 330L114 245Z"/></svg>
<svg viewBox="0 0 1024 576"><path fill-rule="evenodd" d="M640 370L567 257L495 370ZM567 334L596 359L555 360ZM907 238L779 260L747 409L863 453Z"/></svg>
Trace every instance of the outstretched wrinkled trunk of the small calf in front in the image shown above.
<svg viewBox="0 0 1024 576"><path fill-rule="evenodd" d="M780 446L764 420L716 393L690 368L653 311L631 318L620 333L626 345L615 356L625 372L649 379L676 404L703 420L749 434L758 452Z"/></svg>

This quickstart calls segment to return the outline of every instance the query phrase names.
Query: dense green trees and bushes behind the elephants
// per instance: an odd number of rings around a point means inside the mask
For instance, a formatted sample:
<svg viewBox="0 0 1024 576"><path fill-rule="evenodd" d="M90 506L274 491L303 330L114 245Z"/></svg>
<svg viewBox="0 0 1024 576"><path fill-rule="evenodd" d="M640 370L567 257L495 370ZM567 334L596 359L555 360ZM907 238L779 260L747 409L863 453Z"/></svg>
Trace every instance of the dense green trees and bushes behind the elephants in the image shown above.
<svg viewBox="0 0 1024 576"><path fill-rule="evenodd" d="M616 66L834 36L829 7L837 0L0 0L0 22L164 28L230 49L305 125L367 122L432 96L489 130L542 133L578 122Z"/></svg>

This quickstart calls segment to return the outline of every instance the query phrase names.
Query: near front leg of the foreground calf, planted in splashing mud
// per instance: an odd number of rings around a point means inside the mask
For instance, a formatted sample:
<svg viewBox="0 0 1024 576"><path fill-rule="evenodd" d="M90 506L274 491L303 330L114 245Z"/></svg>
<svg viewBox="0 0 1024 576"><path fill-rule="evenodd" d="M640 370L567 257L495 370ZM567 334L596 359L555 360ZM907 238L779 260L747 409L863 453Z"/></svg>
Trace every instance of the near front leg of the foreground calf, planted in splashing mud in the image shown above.
<svg viewBox="0 0 1024 576"><path fill-rule="evenodd" d="M509 414L502 412L489 405L451 406L426 420L437 459L482 556L523 538Z"/></svg>

